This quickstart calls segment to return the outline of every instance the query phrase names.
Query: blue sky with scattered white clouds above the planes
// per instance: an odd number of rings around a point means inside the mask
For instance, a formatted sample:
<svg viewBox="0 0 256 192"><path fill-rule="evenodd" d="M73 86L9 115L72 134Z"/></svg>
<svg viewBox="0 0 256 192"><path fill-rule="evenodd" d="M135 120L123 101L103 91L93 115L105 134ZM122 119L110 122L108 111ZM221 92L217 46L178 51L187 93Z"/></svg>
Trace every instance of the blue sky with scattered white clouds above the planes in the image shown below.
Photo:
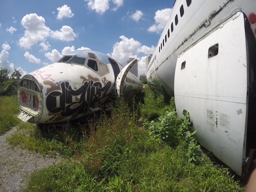
<svg viewBox="0 0 256 192"><path fill-rule="evenodd" d="M90 49L126 64L152 54L174 0L5 0L0 6L0 68L22 75Z"/></svg>

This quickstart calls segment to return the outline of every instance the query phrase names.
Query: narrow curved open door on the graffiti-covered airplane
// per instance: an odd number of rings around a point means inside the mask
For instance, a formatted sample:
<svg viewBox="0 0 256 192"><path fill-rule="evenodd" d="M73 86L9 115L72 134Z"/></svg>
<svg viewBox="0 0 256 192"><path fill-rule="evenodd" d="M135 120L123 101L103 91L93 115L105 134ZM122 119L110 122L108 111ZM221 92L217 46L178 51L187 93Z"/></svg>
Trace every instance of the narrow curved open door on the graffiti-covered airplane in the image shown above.
<svg viewBox="0 0 256 192"><path fill-rule="evenodd" d="M125 65L125 67L122 69L122 71L120 71L120 73L118 74L118 76L116 78L116 91L117 91L118 97L120 97L120 95L122 95L123 92L124 92L125 76L127 75L129 70L131 69L132 65L136 62L137 62L137 59L134 59L133 61L131 61L130 63Z"/></svg>

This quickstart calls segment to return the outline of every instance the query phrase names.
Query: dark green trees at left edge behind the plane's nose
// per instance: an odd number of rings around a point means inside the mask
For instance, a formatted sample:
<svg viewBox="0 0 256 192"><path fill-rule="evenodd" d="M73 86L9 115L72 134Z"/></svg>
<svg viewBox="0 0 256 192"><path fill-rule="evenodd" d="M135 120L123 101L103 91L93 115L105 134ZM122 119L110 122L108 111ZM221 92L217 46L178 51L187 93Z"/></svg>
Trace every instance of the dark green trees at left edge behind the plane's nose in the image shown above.
<svg viewBox="0 0 256 192"><path fill-rule="evenodd" d="M6 68L0 68L0 95L13 95L17 93L17 87L21 74L19 70L9 75L10 71Z"/></svg>

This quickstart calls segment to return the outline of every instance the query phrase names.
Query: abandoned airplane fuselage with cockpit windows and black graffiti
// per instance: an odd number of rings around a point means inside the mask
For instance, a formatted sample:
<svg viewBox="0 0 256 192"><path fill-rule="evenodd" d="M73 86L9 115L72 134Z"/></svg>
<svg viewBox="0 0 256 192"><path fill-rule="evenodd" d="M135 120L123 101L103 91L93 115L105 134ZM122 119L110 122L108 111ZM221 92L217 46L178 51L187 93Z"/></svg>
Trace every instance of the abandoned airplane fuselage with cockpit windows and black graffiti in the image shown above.
<svg viewBox="0 0 256 192"><path fill-rule="evenodd" d="M18 117L42 127L110 108L120 94L141 91L142 82L128 72L136 61L124 68L100 52L73 51L22 77L17 92Z"/></svg>

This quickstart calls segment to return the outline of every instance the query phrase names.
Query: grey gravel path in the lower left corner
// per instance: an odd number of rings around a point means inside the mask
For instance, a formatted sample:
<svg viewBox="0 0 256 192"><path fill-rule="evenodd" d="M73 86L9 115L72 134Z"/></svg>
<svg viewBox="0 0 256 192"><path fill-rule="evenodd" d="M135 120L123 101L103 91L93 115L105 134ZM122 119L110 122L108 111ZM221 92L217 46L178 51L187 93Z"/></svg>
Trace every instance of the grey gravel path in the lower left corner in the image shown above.
<svg viewBox="0 0 256 192"><path fill-rule="evenodd" d="M60 162L60 158L43 157L39 153L11 148L6 137L11 136L17 128L0 136L0 191L22 191L30 173Z"/></svg>

